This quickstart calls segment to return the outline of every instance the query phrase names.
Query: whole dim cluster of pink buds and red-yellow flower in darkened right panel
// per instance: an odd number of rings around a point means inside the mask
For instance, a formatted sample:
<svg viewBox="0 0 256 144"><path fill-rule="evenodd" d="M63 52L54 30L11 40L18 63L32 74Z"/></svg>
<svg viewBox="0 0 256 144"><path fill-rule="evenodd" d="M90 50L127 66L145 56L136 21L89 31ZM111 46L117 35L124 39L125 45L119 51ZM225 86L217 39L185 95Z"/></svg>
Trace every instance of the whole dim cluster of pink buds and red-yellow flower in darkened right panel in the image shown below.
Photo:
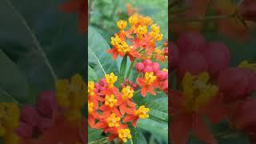
<svg viewBox="0 0 256 144"><path fill-rule="evenodd" d="M255 64L245 61L230 66L228 47L222 42L206 42L197 32L180 35L170 46L171 70L178 76L178 90L171 92L171 141L186 142L194 130L202 141L216 143L205 116L213 123L226 118L231 127L254 138L256 133L249 127L255 126L256 119L249 115L254 115L250 109L255 107L250 97L256 90Z"/></svg>

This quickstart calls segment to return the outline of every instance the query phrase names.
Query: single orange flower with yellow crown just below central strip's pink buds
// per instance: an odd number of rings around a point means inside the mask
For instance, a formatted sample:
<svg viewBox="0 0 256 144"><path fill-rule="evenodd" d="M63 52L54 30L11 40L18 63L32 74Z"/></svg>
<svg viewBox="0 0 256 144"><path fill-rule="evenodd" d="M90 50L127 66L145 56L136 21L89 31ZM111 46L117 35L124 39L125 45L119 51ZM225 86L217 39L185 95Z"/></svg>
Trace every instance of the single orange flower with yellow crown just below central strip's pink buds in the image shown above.
<svg viewBox="0 0 256 144"><path fill-rule="evenodd" d="M142 87L141 93L143 97L146 97L146 93L150 92L150 94L156 95L153 87L157 87L156 76L154 76L154 72L146 72L144 74L144 78L137 78L136 82L139 86Z"/></svg>

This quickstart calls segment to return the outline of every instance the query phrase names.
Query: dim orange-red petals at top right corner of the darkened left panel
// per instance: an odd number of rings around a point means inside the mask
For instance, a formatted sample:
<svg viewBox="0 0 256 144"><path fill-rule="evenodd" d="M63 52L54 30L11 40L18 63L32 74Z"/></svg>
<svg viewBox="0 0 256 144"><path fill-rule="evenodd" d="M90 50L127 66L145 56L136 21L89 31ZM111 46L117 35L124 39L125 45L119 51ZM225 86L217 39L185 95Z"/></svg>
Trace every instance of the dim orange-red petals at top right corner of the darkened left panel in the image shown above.
<svg viewBox="0 0 256 144"><path fill-rule="evenodd" d="M87 2L84 0L70 0L60 6L61 10L67 13L78 13L78 31L85 33L87 30Z"/></svg>

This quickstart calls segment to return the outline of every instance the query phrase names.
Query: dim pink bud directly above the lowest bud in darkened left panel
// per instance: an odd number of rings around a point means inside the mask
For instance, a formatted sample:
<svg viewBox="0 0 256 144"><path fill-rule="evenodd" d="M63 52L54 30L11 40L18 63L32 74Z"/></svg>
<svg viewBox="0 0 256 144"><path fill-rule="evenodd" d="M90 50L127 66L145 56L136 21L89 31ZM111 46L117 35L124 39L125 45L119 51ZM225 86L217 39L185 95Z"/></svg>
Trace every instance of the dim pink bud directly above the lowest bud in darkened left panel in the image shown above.
<svg viewBox="0 0 256 144"><path fill-rule="evenodd" d="M20 119L28 125L34 127L38 124L39 114L34 106L25 106L22 108Z"/></svg>

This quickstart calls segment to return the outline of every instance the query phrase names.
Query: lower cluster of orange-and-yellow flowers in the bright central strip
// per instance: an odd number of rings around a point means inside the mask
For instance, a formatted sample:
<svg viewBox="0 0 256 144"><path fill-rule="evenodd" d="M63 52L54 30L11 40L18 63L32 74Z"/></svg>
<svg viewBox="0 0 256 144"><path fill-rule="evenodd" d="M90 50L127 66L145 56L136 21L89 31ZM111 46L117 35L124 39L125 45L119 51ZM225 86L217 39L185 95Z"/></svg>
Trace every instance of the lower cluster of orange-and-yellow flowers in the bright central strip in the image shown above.
<svg viewBox="0 0 256 144"><path fill-rule="evenodd" d="M127 85L119 91L114 86L117 81L118 77L111 73L99 83L88 82L88 122L94 129L104 129L110 134L110 140L119 138L127 142L131 134L126 122L132 122L136 127L139 118L149 117L147 112L150 109L145 106L137 108L133 102L134 88Z"/></svg>

